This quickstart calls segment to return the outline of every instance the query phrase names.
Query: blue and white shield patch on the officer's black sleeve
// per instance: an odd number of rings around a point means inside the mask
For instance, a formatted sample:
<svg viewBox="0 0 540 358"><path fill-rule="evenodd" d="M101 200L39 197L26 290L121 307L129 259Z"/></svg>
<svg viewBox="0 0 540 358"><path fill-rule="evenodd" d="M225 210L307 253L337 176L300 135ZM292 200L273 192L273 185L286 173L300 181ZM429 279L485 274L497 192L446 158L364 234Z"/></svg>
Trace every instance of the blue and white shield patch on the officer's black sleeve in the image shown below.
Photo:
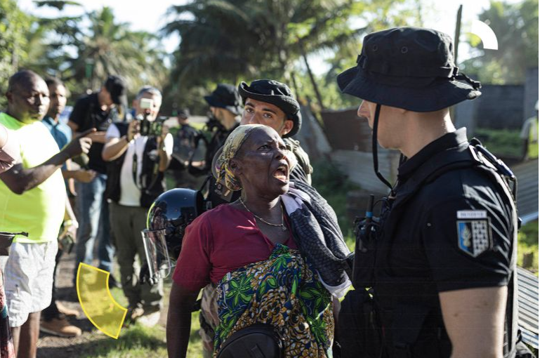
<svg viewBox="0 0 540 358"><path fill-rule="evenodd" d="M458 247L473 258L492 248L492 229L485 210L457 212Z"/></svg>

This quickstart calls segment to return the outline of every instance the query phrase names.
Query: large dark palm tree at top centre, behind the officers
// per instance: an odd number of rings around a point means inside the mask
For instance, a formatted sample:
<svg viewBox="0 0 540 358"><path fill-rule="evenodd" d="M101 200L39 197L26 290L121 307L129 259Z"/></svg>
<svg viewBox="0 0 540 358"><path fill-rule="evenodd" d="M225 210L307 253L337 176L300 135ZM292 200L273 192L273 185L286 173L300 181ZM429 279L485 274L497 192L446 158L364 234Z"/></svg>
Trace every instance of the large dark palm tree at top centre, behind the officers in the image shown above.
<svg viewBox="0 0 540 358"><path fill-rule="evenodd" d="M183 87L254 77L294 82L299 58L308 64L308 53L336 50L362 32L350 29L362 11L352 0L195 0L169 11L176 20L164 33L181 38L171 77Z"/></svg>

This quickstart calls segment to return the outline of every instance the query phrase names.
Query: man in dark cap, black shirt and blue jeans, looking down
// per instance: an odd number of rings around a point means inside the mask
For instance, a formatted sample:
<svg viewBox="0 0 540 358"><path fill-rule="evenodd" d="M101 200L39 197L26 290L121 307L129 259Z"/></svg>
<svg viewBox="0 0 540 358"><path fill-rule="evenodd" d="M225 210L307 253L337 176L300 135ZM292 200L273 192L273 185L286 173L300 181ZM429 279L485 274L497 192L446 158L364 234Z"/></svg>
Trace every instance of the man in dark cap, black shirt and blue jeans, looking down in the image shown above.
<svg viewBox="0 0 540 358"><path fill-rule="evenodd" d="M74 279L77 276L79 263L91 265L93 246L98 240L99 268L112 272L114 247L110 242L109 206L103 193L107 183L107 169L101 157L105 145L105 133L113 121L119 121L126 112L126 84L121 77L109 76L97 93L79 98L73 107L67 125L74 133L96 128L91 135L93 141L88 152L87 169L98 173L90 183L77 183L77 208L79 213L79 230L75 247L76 263ZM110 283L117 286L112 274Z"/></svg>

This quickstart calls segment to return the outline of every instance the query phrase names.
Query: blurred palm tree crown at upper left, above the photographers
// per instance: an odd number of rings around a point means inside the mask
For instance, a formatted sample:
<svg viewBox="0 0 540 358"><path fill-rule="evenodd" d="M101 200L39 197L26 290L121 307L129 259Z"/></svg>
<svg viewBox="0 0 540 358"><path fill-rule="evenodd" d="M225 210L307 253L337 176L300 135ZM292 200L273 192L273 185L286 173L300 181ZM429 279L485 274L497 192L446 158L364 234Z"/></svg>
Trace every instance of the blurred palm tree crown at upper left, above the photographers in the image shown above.
<svg viewBox="0 0 540 358"><path fill-rule="evenodd" d="M57 8L78 5L75 1L39 1L39 6ZM88 24L88 26L81 26ZM117 22L112 9L104 8L77 17L59 13L40 18L29 33L30 55L22 65L42 75L60 77L77 95L98 89L109 74L126 79L138 91L144 84L163 88L167 82L165 53L158 37L135 32Z"/></svg>

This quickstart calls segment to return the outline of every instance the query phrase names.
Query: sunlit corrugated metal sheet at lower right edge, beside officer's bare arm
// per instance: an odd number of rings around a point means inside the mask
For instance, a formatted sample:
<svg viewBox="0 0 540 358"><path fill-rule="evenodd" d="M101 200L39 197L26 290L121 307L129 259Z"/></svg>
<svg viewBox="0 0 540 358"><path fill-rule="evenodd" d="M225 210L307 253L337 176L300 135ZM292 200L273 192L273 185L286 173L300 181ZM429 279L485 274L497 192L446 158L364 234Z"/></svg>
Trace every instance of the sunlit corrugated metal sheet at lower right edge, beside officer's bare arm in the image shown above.
<svg viewBox="0 0 540 358"><path fill-rule="evenodd" d="M518 324L523 341L538 349L538 277L518 267Z"/></svg>

